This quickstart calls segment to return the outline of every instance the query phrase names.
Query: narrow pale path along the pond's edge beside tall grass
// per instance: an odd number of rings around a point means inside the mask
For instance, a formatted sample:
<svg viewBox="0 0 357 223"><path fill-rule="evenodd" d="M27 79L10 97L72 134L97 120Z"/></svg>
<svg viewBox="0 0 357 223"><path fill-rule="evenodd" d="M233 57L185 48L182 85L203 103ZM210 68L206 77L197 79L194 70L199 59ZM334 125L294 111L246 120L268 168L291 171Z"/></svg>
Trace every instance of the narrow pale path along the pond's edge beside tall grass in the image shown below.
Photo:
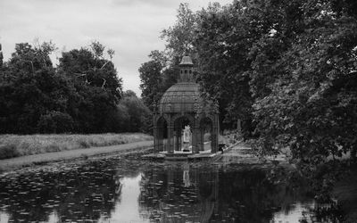
<svg viewBox="0 0 357 223"><path fill-rule="evenodd" d="M35 163L48 161L62 161L85 156L93 156L103 153L124 152L128 150L140 149L153 146L154 141L143 141L123 145L111 145L103 147L92 147L87 149L69 150L55 153L41 153L36 155L21 156L12 159L0 160L0 170L17 169Z"/></svg>

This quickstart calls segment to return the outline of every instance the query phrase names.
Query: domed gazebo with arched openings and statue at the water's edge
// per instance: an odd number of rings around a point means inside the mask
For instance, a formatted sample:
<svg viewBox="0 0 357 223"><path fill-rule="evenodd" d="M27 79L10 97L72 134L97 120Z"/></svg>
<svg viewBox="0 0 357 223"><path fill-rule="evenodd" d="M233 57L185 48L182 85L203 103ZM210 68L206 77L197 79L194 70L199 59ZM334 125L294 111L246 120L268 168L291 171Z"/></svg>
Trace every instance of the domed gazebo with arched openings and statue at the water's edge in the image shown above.
<svg viewBox="0 0 357 223"><path fill-rule="evenodd" d="M184 132L187 136L187 131L190 131L189 142L183 138ZM210 133L211 153L216 153L219 136L218 106L203 100L200 86L195 83L194 63L189 56L184 56L179 63L179 82L162 95L154 110L154 151L169 154L200 153L205 147L207 151L210 145L204 146L205 133Z"/></svg>

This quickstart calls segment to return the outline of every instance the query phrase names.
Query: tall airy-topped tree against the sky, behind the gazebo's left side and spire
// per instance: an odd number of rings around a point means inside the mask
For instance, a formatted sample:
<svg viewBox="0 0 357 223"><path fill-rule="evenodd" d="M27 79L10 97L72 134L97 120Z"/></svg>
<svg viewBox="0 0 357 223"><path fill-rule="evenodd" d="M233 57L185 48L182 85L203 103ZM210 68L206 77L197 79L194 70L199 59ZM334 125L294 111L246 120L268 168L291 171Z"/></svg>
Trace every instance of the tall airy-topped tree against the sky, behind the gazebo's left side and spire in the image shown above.
<svg viewBox="0 0 357 223"><path fill-rule="evenodd" d="M179 78L179 62L184 54L195 59L195 33L197 16L188 4L179 4L177 21L168 29L162 30L162 39L166 42L165 50L154 50L149 54L149 61L139 68L142 90L141 97L152 111L160 101L162 94Z"/></svg>

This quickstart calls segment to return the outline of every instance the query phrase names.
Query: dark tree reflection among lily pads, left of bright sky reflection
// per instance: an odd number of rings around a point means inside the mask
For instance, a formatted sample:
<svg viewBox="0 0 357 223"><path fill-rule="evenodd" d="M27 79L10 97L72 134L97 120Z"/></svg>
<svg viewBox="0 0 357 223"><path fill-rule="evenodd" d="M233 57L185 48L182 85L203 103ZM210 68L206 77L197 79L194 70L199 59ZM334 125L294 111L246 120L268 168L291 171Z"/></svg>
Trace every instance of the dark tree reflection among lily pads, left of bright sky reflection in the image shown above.
<svg viewBox="0 0 357 223"><path fill-rule="evenodd" d="M110 218L120 198L118 183L101 162L22 173L0 182L0 207L10 222L48 221L51 213L59 219L93 220Z"/></svg>

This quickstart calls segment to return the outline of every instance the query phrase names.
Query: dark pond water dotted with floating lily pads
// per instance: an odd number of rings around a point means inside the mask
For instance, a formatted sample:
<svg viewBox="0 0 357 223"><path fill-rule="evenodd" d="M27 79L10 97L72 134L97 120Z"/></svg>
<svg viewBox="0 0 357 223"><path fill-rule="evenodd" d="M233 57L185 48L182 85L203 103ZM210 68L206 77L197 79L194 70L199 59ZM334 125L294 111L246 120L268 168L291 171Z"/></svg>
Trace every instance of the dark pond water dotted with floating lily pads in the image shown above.
<svg viewBox="0 0 357 223"><path fill-rule="evenodd" d="M0 222L299 222L316 204L270 168L120 158L0 176ZM310 222L310 220L309 220Z"/></svg>

